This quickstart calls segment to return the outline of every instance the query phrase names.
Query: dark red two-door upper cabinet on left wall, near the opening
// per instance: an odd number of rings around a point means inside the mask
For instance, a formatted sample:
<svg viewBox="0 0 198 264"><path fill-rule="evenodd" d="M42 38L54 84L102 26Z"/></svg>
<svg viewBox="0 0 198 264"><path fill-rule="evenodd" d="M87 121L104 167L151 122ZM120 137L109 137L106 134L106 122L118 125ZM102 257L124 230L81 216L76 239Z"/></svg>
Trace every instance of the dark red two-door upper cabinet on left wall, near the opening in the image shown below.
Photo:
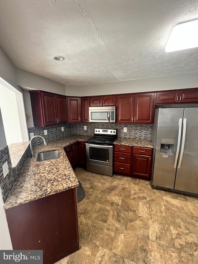
<svg viewBox="0 0 198 264"><path fill-rule="evenodd" d="M67 122L65 96L40 90L29 93L34 126L45 127Z"/></svg>

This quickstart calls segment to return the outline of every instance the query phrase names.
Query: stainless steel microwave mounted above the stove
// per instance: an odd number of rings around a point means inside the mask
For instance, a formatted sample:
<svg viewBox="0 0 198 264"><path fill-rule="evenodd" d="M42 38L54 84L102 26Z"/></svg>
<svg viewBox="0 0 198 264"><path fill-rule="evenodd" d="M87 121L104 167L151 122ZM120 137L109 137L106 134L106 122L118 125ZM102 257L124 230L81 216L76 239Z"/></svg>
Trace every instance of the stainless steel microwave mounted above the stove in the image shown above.
<svg viewBox="0 0 198 264"><path fill-rule="evenodd" d="M89 107L89 122L115 123L115 106Z"/></svg>

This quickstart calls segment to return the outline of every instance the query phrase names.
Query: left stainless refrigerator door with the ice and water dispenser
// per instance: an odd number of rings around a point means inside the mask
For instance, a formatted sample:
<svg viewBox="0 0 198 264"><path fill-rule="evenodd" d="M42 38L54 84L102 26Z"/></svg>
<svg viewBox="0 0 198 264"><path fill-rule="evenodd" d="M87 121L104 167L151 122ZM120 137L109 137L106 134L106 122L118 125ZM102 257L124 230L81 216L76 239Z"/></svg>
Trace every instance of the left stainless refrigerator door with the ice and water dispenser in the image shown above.
<svg viewBox="0 0 198 264"><path fill-rule="evenodd" d="M152 184L154 186L174 189L178 160L176 154L179 154L178 138L180 143L179 134L181 135L183 113L184 108L159 109L157 123L157 140L155 156L153 157L154 167ZM157 110L155 114L157 114ZM160 153L162 138L174 139L173 155L165 155Z"/></svg>

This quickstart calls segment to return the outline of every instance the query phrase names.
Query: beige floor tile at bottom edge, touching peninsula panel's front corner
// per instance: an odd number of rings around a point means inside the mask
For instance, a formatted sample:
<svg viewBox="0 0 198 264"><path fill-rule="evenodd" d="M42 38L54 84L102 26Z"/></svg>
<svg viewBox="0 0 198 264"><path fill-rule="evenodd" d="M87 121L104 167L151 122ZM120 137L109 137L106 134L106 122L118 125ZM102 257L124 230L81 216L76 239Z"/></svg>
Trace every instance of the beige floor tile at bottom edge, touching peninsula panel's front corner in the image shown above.
<svg viewBox="0 0 198 264"><path fill-rule="evenodd" d="M93 264L100 263L99 259L105 254L106 249L82 238L79 239L80 250L63 258L61 264Z"/></svg>

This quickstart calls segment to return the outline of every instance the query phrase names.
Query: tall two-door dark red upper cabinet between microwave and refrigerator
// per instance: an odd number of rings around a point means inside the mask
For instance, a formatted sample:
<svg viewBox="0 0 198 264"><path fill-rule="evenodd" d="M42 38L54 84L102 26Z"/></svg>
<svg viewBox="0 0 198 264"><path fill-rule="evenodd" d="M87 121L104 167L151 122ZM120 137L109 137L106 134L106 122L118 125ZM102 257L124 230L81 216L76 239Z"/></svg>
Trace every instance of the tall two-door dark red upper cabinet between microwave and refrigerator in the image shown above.
<svg viewBox="0 0 198 264"><path fill-rule="evenodd" d="M116 96L117 123L153 123L154 93Z"/></svg>

